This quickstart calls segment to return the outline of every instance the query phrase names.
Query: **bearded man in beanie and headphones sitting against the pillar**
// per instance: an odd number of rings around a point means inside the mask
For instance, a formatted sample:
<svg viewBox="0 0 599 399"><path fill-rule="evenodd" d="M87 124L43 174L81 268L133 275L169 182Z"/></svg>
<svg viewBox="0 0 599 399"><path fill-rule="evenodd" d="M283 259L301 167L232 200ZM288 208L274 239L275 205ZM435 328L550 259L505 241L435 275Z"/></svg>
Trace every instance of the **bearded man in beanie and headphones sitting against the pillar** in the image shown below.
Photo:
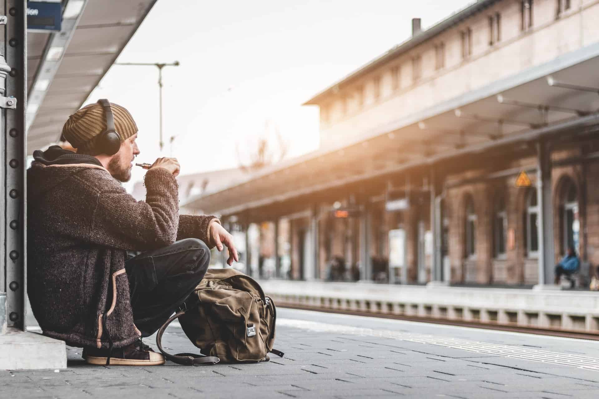
<svg viewBox="0 0 599 399"><path fill-rule="evenodd" d="M62 134L77 153L56 145L34 151L27 170L31 309L44 334L83 347L87 363L164 364L141 337L193 292L210 248L226 245L229 266L238 261L233 238L214 216L179 214L175 158L149 167L145 201L127 193L121 183L140 149L122 106L105 99L84 106Z"/></svg>

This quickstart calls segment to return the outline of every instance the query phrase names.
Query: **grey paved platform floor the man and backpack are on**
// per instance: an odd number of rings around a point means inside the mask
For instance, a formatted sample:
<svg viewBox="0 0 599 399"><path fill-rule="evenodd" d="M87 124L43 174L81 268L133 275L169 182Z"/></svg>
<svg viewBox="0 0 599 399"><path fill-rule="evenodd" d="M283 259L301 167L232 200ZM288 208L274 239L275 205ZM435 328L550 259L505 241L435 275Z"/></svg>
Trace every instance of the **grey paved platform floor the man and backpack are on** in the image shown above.
<svg viewBox="0 0 599 399"><path fill-rule="evenodd" d="M599 342L279 308L268 363L0 370L10 398L597 398ZM144 340L153 344L153 337ZM173 352L193 346L169 328ZM152 345L155 346L155 345Z"/></svg>

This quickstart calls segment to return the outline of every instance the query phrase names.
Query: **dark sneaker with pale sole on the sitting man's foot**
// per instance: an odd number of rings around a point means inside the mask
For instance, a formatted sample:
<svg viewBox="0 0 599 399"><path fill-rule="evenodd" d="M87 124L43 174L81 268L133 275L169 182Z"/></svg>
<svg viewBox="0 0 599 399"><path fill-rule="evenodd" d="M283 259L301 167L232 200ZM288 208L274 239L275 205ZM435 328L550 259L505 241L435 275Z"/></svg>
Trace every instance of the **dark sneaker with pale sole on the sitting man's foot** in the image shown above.
<svg viewBox="0 0 599 399"><path fill-rule="evenodd" d="M143 349L144 347L148 349ZM85 348L83 352L87 364L106 365L108 349ZM110 355L110 366L156 366L164 363L164 355L152 351L152 348L141 343L141 340L123 348L114 348Z"/></svg>

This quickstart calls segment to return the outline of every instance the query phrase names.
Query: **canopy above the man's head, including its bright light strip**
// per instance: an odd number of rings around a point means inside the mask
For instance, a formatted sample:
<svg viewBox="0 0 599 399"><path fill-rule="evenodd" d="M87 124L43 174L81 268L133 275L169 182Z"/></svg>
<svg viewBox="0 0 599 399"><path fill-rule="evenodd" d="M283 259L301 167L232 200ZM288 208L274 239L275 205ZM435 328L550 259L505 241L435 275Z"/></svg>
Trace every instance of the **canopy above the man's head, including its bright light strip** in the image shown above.
<svg viewBox="0 0 599 399"><path fill-rule="evenodd" d="M28 154L59 141L155 2L63 0L61 32L28 32Z"/></svg>

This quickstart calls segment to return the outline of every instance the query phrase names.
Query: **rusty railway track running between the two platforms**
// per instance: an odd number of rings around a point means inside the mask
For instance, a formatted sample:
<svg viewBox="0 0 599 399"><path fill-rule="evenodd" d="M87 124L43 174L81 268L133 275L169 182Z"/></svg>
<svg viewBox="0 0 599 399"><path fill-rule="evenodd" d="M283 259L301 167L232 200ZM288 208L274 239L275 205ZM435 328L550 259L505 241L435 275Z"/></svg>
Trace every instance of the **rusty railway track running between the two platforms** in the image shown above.
<svg viewBox="0 0 599 399"><path fill-rule="evenodd" d="M555 336L555 337L566 337L575 339L588 339L588 340L599 340L599 331L597 333L589 333L588 331L576 331L576 330L564 330L564 329L552 329L552 328L540 328L540 327L522 327L509 324L499 324L497 322L476 322L476 321L463 321L463 320L452 320L452 319L440 319L424 316L403 316L403 315L391 315L385 313L367 312L361 310L344 310L344 309L331 309L330 307L322 306L310 306L310 305L298 305L290 304L285 302L277 303L279 307L288 307L289 309L301 309L301 310L314 310L316 312L323 313L337 313L341 315L354 315L354 316L368 316L385 319L395 320L406 320L406 321L418 321L431 324L444 324L444 325L456 325L459 327L473 327L481 328L483 330L500 330L510 331L513 333L527 333L527 334L539 334L544 336Z"/></svg>

